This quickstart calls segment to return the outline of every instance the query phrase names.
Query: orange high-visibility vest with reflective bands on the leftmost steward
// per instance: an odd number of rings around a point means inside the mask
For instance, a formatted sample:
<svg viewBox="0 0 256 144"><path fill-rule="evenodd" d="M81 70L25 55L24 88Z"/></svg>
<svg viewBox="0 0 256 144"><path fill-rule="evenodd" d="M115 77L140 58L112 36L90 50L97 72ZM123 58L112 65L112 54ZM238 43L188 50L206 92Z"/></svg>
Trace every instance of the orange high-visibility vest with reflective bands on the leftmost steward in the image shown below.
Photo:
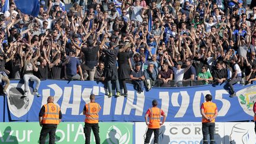
<svg viewBox="0 0 256 144"><path fill-rule="evenodd" d="M60 108L54 103L44 104L44 115L41 123L43 124L59 124Z"/></svg>

